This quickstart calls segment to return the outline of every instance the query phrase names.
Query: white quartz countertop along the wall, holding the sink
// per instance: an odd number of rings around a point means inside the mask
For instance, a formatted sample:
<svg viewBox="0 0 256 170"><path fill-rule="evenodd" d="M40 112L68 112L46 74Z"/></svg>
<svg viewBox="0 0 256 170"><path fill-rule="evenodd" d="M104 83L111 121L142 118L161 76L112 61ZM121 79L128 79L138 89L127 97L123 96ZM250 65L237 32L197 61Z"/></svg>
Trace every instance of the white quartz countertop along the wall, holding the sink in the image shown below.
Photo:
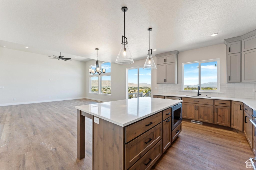
<svg viewBox="0 0 256 170"><path fill-rule="evenodd" d="M173 96L173 97L189 97L189 98L201 98L201 99L219 99L219 100L233 100L240 101L248 105L253 110L256 110L256 99L247 99L247 98L234 98L234 97L200 97L200 96L186 96L186 95L174 95L174 94L153 94L159 96Z"/></svg>

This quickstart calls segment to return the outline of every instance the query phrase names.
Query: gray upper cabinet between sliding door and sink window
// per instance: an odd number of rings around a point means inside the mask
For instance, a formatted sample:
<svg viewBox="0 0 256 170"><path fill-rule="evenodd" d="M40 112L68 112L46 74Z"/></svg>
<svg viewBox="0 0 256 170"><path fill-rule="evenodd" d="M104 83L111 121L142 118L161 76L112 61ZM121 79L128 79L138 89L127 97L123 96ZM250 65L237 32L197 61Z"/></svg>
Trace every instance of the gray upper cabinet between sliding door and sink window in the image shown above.
<svg viewBox="0 0 256 170"><path fill-rule="evenodd" d="M179 51L156 54L156 83L178 83Z"/></svg>

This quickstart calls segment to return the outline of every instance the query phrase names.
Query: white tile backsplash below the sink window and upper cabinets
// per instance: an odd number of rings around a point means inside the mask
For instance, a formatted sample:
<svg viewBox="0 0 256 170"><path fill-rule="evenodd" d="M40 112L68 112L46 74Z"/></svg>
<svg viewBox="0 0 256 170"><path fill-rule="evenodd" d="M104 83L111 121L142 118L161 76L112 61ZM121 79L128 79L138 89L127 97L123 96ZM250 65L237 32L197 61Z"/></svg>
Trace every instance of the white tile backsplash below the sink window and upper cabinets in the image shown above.
<svg viewBox="0 0 256 170"><path fill-rule="evenodd" d="M256 99L256 93L253 93L254 88L256 88L256 83L254 82L220 83L220 93L200 92L200 94L202 94L201 96ZM160 94L197 95L197 91L187 92L181 90L181 84L158 84L158 93Z"/></svg>

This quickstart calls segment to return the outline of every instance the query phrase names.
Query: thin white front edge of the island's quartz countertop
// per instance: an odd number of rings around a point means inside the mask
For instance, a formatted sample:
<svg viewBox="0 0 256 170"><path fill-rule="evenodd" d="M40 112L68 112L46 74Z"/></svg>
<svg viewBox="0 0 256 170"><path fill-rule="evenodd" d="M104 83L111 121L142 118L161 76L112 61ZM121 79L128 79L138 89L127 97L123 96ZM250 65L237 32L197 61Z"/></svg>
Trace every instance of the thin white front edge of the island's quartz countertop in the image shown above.
<svg viewBox="0 0 256 170"><path fill-rule="evenodd" d="M147 114L147 115L144 115L144 116L142 116L142 117L139 117L139 118L137 118L137 119L134 119L134 120L132 120L132 121L130 121L130 122L127 122L127 123L125 123L125 124L122 124L122 123L113 121L113 120L111 120L111 119L108 119L108 118L106 118L106 117L103 117L103 116L101 116L101 115L98 115L98 114L95 114L95 113L92 113L92 112L88 112L88 111L86 111L86 110L84 110L84 109L79 108L79 106L75 106L75 108L78 109L78 110L81 110L81 111L83 111L83 112L86 112L86 113L88 113L88 114L91 114L91 115L93 115L93 116L95 116L95 117L99 117L99 118L101 118L101 119L103 119L103 120L106 120L106 121L108 121L108 122L111 122L111 123L114 123L114 124L116 124L116 125L119 125L119 126L121 126L121 127L125 127L125 126L128 126L128 125L130 125L130 124L132 124L132 123L134 123L134 122L137 122L137 121L139 121L139 120L142 120L142 119L144 119L144 118L146 118L146 117L148 117L148 116L151 116L151 115L153 115L153 114L155 114L155 113L158 113L158 112L160 112L160 111L162 111L162 110L165 110L165 109L167 109L167 108L170 108L170 107L172 107L172 106L174 106L174 105L176 105L176 104L178 104L178 103L180 103L180 102L182 102L182 100L178 100L177 103L175 103L175 104L172 104L172 105L170 105L170 106L168 106L168 107L161 108L161 109L159 109L159 110L157 110L157 111L155 111L155 112L149 113L149 114ZM92 121L93 121L93 120L92 120Z"/></svg>

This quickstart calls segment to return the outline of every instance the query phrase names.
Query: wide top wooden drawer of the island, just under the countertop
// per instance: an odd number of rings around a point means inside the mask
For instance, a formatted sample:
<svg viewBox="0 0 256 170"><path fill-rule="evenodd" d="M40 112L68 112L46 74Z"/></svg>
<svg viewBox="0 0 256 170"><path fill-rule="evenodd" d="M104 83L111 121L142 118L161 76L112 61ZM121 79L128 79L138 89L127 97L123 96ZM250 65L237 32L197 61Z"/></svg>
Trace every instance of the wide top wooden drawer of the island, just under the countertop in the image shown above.
<svg viewBox="0 0 256 170"><path fill-rule="evenodd" d="M125 143L162 122L162 112L125 127Z"/></svg>

